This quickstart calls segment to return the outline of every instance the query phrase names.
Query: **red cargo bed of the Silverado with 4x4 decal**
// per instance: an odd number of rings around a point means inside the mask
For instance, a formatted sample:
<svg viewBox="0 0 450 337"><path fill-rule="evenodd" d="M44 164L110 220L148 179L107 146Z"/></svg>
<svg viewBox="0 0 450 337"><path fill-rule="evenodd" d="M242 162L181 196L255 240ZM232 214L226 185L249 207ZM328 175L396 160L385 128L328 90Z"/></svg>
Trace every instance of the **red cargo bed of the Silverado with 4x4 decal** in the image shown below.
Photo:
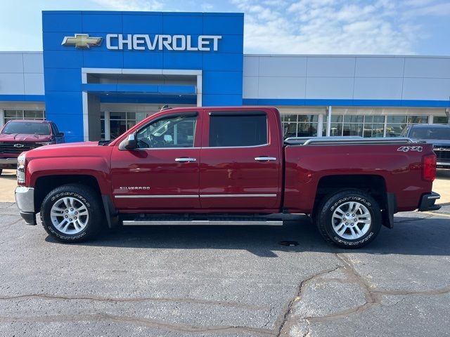
<svg viewBox="0 0 450 337"><path fill-rule="evenodd" d="M431 153L431 145L409 138L288 138L284 206L302 213L313 209L317 190L336 181L375 180L387 193L395 192L397 211L417 209L432 187L421 176L422 158Z"/></svg>

